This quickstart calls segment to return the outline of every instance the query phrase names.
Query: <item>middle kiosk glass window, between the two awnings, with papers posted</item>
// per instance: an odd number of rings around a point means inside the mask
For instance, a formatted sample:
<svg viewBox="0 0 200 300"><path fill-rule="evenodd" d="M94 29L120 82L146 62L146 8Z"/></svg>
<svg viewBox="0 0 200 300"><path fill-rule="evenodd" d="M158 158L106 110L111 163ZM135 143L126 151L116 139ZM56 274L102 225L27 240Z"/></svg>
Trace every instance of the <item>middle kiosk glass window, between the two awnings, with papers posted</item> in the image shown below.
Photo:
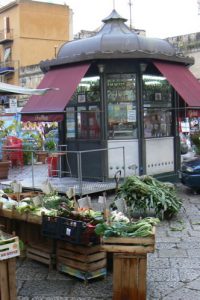
<svg viewBox="0 0 200 300"><path fill-rule="evenodd" d="M108 137L137 138L136 75L107 77Z"/></svg>

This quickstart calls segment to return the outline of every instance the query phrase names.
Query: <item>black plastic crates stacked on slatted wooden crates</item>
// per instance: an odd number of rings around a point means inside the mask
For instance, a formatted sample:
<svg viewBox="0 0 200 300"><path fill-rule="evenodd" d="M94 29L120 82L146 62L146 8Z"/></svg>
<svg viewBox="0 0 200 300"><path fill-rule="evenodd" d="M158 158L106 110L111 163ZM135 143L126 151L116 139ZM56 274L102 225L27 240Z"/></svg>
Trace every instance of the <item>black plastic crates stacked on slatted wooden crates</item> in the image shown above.
<svg viewBox="0 0 200 300"><path fill-rule="evenodd" d="M57 270L88 280L106 274L95 226L64 217L42 217L42 235L56 242Z"/></svg>

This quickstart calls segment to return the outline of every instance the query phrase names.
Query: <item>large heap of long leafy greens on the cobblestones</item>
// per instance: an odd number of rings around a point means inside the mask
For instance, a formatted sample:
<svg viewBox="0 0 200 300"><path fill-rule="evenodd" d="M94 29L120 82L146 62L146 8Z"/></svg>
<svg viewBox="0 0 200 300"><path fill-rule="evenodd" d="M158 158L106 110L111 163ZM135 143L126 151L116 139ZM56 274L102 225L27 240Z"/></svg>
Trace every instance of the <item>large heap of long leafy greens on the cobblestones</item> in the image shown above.
<svg viewBox="0 0 200 300"><path fill-rule="evenodd" d="M125 199L130 213L146 216L153 212L161 219L172 217L182 206L172 184L147 175L128 177L119 188L117 197Z"/></svg>

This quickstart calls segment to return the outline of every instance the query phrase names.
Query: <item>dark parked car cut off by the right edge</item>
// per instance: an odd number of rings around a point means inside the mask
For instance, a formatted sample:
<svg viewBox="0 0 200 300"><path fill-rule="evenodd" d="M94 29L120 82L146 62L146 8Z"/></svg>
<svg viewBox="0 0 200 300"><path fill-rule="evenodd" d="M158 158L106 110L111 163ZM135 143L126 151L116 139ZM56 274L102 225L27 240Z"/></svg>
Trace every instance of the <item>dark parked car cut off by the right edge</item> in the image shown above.
<svg viewBox="0 0 200 300"><path fill-rule="evenodd" d="M182 184L195 191L200 191L200 158L195 157L183 162L179 175Z"/></svg>

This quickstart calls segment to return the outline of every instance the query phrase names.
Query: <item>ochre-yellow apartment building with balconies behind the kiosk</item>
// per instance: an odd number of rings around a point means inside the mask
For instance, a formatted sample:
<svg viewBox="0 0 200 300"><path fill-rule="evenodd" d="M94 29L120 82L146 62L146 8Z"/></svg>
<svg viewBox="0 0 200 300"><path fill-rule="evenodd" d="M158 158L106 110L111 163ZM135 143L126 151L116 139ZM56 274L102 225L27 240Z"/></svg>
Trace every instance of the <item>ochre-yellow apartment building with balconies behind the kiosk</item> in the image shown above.
<svg viewBox="0 0 200 300"><path fill-rule="evenodd" d="M40 61L54 58L71 39L72 10L67 5L14 0L2 6L0 81L36 87L43 76Z"/></svg>

